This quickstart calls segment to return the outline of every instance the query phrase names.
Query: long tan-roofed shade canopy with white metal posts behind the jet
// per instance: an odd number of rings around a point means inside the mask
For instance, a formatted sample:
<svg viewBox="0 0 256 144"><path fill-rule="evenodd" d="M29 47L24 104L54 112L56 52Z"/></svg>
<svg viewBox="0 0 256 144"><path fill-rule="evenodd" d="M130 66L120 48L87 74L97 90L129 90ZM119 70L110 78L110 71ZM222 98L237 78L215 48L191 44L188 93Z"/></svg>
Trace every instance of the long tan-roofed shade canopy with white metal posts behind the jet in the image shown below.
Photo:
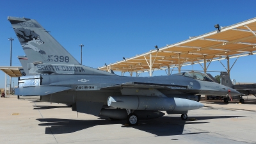
<svg viewBox="0 0 256 144"><path fill-rule="evenodd" d="M230 72L229 59L256 54L256 17L227 27L215 25L216 30L165 47L150 50L143 54L127 58L110 65L99 67L100 70L119 72L149 72L153 70L199 63L204 72L206 63L227 59L227 72Z"/></svg>

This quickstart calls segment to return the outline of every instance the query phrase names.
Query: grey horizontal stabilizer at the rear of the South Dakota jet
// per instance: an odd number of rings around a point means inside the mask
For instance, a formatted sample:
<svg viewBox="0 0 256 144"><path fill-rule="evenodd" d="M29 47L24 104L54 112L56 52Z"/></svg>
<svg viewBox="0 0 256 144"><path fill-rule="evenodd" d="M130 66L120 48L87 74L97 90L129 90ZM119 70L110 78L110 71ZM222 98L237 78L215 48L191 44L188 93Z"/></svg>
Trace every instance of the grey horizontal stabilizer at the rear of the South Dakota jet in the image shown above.
<svg viewBox="0 0 256 144"><path fill-rule="evenodd" d="M61 92L70 89L72 88L64 86L28 86L22 88L15 88L15 95L49 95L51 93Z"/></svg>

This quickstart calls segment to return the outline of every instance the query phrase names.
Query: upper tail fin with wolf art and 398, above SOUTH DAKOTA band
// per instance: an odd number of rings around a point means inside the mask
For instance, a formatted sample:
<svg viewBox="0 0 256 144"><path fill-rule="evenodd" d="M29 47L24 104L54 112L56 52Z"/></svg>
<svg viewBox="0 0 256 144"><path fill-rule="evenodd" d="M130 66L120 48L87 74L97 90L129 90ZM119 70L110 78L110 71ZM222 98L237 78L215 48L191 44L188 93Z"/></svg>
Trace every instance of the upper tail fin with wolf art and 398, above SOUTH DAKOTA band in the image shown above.
<svg viewBox="0 0 256 144"><path fill-rule="evenodd" d="M71 56L36 20L8 17L29 61L48 64L78 65Z"/></svg>

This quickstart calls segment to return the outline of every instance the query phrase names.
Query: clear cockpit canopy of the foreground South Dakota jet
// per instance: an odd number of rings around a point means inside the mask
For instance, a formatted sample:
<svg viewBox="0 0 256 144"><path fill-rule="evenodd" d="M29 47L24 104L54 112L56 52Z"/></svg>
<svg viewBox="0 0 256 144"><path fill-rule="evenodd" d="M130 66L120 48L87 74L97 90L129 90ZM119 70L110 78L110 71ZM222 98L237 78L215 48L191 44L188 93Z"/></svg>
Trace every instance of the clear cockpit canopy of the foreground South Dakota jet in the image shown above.
<svg viewBox="0 0 256 144"><path fill-rule="evenodd" d="M178 74L179 76L186 76L186 77L191 77L193 79L198 79L200 81L212 81L211 77L207 76L206 74L202 74L200 72L180 72Z"/></svg>

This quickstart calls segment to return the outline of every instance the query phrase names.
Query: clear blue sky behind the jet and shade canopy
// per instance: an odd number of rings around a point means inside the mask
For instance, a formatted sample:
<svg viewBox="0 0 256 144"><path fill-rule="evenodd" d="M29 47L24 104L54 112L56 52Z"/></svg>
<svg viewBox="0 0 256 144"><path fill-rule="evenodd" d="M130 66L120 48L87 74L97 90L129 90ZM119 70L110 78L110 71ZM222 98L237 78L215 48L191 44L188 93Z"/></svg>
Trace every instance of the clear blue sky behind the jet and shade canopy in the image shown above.
<svg viewBox="0 0 256 144"><path fill-rule="evenodd" d="M214 31L214 24L230 26L256 17L256 1L1 1L0 65L20 66L17 56L24 55L8 16L36 19L74 58L80 61L79 44L83 47L83 65L102 67L123 57L187 40ZM256 83L256 56L239 58L231 70L236 82ZM234 63L235 59L230 59ZM227 64L223 60L222 63ZM191 70L192 66L182 67ZM194 65L194 70L202 70ZM219 61L208 70L225 71ZM177 71L175 71L177 72ZM119 74L119 73L117 73ZM211 72L212 76L220 72ZM166 75L163 70L153 76ZM127 74L128 76L128 74ZM143 73L142 76L148 76ZM14 79L17 85L17 79ZM0 72L0 88L4 88L4 72Z"/></svg>

